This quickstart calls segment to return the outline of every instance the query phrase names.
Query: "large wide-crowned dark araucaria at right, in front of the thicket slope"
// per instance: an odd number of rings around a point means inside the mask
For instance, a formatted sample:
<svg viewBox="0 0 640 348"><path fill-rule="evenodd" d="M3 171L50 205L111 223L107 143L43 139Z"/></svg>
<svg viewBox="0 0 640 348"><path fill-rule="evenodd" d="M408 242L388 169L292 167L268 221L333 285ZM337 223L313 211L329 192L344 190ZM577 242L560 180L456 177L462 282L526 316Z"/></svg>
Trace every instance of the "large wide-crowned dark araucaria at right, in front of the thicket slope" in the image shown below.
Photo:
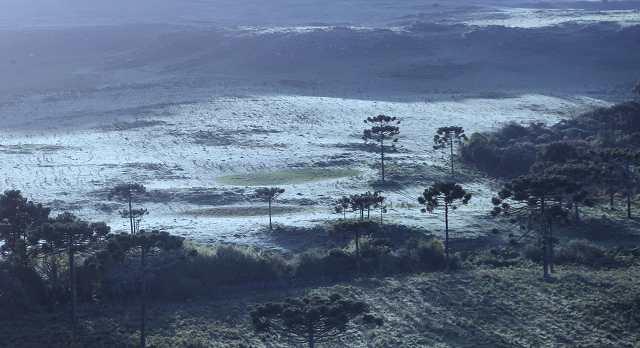
<svg viewBox="0 0 640 348"><path fill-rule="evenodd" d="M527 216L530 221L540 219L543 251L543 280L549 277L549 255L551 253L551 236L548 230L547 211L552 205L561 205L567 196L580 192L582 185L561 175L530 174L511 180L503 185L498 197L491 202L494 207L491 215L503 216L516 222L519 216Z"/></svg>

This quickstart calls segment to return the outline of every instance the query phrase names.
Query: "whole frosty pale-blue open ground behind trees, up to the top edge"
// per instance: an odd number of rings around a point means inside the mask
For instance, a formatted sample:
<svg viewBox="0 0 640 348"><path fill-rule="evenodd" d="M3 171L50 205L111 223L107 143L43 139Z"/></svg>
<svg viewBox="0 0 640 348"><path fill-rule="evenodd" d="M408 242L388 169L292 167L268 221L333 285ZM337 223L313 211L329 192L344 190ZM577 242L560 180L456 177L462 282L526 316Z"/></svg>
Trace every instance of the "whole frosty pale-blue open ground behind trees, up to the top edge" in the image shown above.
<svg viewBox="0 0 640 348"><path fill-rule="evenodd" d="M303 235L283 246L265 233L265 215L188 212L262 204L250 198L254 188L217 181L227 175L359 170L281 185L277 204L296 210L274 216L280 226L337 218L332 199L373 190L377 180L378 155L360 138L363 120L378 114L402 120L390 174L424 172L385 192L385 220L441 233L440 217L416 206L425 187L446 178L444 154L430 150L438 127L471 134L512 121L550 124L629 97L640 76L634 2L597 11L589 7L599 2L182 1L154 2L157 11L144 1L8 3L13 15L0 13L4 187L125 231L124 206L106 192L139 182L152 192L139 203L150 211L142 228L204 242L301 250ZM437 26L407 31L414 19ZM496 36L489 25L515 31ZM462 184L474 198L453 227L486 235L490 182Z"/></svg>

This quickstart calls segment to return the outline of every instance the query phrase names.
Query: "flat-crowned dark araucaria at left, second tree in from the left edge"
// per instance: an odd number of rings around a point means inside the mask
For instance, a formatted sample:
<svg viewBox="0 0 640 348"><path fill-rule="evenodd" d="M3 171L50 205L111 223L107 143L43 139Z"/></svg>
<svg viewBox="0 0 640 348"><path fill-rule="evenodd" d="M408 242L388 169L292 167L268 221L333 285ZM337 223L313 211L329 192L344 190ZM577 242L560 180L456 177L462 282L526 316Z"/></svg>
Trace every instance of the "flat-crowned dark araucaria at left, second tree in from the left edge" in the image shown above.
<svg viewBox="0 0 640 348"><path fill-rule="evenodd" d="M69 257L69 286L71 290L71 326L77 333L75 255L96 246L109 233L104 223L89 224L72 213L59 214L53 223L43 223L29 235L29 244L46 255L67 253ZM57 272L57 270L54 270Z"/></svg>

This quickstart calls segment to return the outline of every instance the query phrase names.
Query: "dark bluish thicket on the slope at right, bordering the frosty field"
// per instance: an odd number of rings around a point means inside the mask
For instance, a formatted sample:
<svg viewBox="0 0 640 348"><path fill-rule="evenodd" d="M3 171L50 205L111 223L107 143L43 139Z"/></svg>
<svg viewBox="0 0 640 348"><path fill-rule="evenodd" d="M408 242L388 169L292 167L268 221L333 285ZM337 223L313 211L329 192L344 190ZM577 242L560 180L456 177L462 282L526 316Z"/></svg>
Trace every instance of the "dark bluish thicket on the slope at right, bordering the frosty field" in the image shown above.
<svg viewBox="0 0 640 348"><path fill-rule="evenodd" d="M528 174L546 145L564 142L585 155L590 149L638 145L640 102L626 101L596 108L557 124L508 124L496 132L474 132L461 148L465 161L495 177Z"/></svg>

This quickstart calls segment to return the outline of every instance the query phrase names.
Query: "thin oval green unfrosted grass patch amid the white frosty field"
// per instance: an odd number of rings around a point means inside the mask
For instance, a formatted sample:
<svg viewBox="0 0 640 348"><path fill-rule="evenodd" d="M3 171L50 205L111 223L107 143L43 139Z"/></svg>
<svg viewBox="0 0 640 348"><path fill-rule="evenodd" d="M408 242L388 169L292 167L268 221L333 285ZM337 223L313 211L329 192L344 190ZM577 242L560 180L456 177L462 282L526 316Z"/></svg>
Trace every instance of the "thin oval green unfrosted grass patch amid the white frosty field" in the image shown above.
<svg viewBox="0 0 640 348"><path fill-rule="evenodd" d="M345 178L362 174L354 169L293 169L282 172L245 173L219 177L217 182L235 186L291 185L330 179Z"/></svg>

